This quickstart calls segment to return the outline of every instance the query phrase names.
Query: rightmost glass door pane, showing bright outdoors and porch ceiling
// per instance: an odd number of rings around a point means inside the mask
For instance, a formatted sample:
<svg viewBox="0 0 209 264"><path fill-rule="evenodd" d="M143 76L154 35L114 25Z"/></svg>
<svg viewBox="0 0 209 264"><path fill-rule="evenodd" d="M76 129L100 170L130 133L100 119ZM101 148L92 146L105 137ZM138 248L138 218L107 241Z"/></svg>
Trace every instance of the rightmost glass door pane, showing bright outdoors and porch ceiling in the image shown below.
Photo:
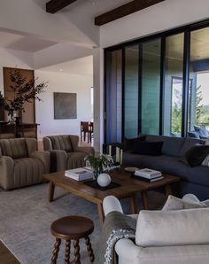
<svg viewBox="0 0 209 264"><path fill-rule="evenodd" d="M190 34L190 107L188 131L209 130L209 27Z"/></svg>

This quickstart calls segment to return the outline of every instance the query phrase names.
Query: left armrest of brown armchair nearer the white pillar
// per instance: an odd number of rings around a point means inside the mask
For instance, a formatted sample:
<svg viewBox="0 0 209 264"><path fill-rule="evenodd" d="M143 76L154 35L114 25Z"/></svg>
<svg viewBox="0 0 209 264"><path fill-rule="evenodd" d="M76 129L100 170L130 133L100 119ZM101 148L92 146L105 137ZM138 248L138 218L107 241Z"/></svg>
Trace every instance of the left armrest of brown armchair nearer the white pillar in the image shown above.
<svg viewBox="0 0 209 264"><path fill-rule="evenodd" d="M66 151L53 150L50 151L50 172L66 170Z"/></svg>

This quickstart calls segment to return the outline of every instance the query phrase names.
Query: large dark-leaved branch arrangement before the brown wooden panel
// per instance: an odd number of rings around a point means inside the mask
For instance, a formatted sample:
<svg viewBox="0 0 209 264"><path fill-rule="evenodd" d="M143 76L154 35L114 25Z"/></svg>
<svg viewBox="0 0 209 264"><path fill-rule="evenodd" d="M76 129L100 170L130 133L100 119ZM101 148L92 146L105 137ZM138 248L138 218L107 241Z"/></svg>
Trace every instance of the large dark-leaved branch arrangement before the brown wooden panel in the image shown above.
<svg viewBox="0 0 209 264"><path fill-rule="evenodd" d="M13 113L18 110L24 110L24 103L31 103L32 99L41 100L38 94L42 93L47 87L47 82L40 82L35 85L37 78L27 81L17 68L10 72L10 90L12 91L12 99L8 99L3 96L0 91L0 106L4 106L4 110L8 112L9 116L13 116Z"/></svg>

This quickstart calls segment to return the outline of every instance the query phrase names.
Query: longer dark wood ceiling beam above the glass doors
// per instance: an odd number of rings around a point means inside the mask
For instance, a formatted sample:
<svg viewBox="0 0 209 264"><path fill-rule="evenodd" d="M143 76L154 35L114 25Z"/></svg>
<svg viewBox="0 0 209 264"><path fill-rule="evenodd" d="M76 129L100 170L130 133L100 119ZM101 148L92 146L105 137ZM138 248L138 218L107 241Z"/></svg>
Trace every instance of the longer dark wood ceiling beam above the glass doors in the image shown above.
<svg viewBox="0 0 209 264"><path fill-rule="evenodd" d="M165 0L136 0L131 1L128 4L123 4L118 8L113 9L110 12L105 12L104 14L98 16L95 18L95 25L102 26L106 23L109 23L113 20L123 18L125 16L128 16L129 14L133 12L137 12L140 10L143 10L144 8L147 8L153 4L159 4L160 2L163 2Z"/></svg>

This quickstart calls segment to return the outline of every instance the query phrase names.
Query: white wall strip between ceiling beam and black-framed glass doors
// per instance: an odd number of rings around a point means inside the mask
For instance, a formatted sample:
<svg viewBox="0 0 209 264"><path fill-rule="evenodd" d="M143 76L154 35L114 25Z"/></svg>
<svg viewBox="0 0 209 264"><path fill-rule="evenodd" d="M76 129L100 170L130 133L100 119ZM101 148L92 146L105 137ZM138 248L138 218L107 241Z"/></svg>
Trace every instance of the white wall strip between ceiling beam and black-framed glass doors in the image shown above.
<svg viewBox="0 0 209 264"><path fill-rule="evenodd" d="M166 0L100 27L100 46L108 47L208 19L208 10L208 0Z"/></svg>

